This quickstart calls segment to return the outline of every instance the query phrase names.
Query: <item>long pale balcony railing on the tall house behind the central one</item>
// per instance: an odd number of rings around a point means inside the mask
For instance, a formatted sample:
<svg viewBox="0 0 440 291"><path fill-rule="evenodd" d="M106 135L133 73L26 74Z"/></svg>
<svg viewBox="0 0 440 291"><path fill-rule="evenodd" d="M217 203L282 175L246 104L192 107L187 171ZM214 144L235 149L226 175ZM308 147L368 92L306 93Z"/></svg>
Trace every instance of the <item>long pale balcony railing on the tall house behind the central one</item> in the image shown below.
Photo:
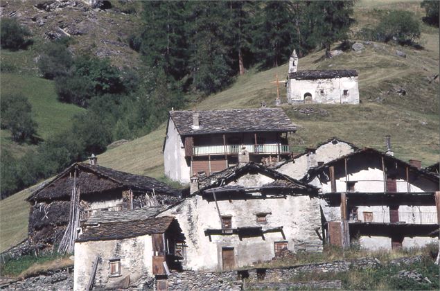
<svg viewBox="0 0 440 291"><path fill-rule="evenodd" d="M202 145L193 147L193 155L237 155L243 145ZM245 145L249 154L286 155L290 153L290 145L260 144Z"/></svg>

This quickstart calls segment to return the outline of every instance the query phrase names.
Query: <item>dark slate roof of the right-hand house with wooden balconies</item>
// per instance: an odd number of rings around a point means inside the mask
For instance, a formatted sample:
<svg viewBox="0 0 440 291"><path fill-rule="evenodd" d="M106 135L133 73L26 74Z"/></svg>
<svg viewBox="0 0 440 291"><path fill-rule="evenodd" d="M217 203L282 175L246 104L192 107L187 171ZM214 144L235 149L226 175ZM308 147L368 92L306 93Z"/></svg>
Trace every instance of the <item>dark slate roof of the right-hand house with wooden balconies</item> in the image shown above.
<svg viewBox="0 0 440 291"><path fill-rule="evenodd" d="M333 161L329 161L328 163L319 166L310 168L308 170L308 173L301 179L301 182L310 182L314 179L319 173L322 173L323 170L328 168L328 166L332 166L334 164L340 163L341 161L344 161L344 159L350 159L351 157L355 156L361 156L361 155L374 155L378 157L384 157L385 161L394 161L396 164L399 164L401 166L408 167L408 169L414 171L414 173L419 173L420 175L423 175L424 177L434 181L439 182L439 176L435 175L434 173L429 172L428 170L425 170L423 168L417 168L416 166L413 166L412 164L407 163L406 161L402 161L401 159L398 159L394 156L387 155L385 152L381 152L380 150L376 150L374 148L362 148L360 150L356 150L355 152L351 152L348 155L344 155L342 157L339 157L337 159L333 159Z"/></svg>

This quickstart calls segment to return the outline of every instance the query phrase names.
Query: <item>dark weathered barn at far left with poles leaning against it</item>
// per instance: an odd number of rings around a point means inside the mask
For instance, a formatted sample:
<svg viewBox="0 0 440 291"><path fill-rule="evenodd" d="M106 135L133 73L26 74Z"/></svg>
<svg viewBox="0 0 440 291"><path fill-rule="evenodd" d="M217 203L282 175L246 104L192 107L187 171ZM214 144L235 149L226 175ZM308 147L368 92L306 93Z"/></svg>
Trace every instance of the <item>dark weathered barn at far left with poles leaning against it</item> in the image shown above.
<svg viewBox="0 0 440 291"><path fill-rule="evenodd" d="M78 199L73 202L73 197ZM151 177L98 166L92 157L91 164L69 166L26 200L30 203L28 242L42 249L60 243L72 222L73 209L78 212L79 226L101 211L174 204L180 200L180 193Z"/></svg>

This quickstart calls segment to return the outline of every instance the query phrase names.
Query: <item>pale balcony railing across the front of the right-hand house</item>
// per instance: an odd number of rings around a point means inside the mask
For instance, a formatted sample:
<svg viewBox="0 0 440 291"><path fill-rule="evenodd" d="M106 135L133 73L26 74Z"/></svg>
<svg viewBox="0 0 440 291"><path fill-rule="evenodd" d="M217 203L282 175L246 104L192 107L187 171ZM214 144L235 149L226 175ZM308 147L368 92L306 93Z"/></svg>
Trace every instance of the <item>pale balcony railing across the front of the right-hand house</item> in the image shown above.
<svg viewBox="0 0 440 291"><path fill-rule="evenodd" d="M351 214L349 222L377 222L389 223L389 211L364 211L356 215ZM408 224L436 224L437 212L399 211L398 222Z"/></svg>

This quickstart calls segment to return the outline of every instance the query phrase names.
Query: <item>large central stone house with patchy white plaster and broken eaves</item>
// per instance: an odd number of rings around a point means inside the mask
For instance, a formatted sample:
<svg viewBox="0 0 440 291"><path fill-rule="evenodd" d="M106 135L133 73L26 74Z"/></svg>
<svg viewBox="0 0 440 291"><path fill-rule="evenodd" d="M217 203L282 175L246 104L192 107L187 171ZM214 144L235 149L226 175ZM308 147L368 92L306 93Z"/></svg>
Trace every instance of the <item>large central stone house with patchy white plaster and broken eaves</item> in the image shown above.
<svg viewBox="0 0 440 291"><path fill-rule="evenodd" d="M322 251L313 186L242 162L209 177L192 177L191 193L159 214L175 216L188 238L184 270L233 270L270 261L285 248Z"/></svg>

